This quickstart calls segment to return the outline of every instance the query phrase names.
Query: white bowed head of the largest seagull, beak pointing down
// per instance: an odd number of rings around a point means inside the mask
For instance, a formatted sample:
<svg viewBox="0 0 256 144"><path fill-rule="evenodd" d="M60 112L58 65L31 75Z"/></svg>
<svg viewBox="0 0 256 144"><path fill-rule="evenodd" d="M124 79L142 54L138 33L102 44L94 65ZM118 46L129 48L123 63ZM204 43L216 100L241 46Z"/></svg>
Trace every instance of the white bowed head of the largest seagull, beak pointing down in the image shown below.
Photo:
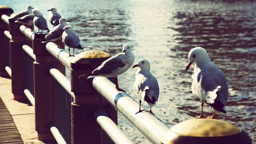
<svg viewBox="0 0 256 144"><path fill-rule="evenodd" d="M188 64L186 71L193 63L198 63L209 59L209 55L202 47L194 47L188 52Z"/></svg>

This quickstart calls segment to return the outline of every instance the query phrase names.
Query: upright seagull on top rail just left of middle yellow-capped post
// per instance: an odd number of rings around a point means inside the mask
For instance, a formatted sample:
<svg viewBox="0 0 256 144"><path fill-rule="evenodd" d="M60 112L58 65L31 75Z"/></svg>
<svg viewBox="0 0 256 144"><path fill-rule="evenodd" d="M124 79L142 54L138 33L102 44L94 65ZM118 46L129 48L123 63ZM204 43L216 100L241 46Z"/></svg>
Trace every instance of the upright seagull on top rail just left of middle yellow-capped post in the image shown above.
<svg viewBox="0 0 256 144"><path fill-rule="evenodd" d="M79 37L73 31L71 25L65 26L62 31L65 31L62 33L62 42L69 47L69 56L74 56L75 48L83 49ZM70 48L74 48L73 55L70 54Z"/></svg>

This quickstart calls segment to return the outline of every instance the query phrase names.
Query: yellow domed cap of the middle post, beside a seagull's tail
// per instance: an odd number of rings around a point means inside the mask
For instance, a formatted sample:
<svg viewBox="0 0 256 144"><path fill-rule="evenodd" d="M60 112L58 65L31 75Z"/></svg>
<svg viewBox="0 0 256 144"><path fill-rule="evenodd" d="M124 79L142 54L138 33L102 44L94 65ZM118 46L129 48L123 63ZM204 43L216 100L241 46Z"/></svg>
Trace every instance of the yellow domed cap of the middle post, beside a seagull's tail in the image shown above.
<svg viewBox="0 0 256 144"><path fill-rule="evenodd" d="M87 50L77 54L71 63L72 69L79 70L90 70L91 66L101 64L103 61L109 59L111 56L109 53L106 53L101 50Z"/></svg>

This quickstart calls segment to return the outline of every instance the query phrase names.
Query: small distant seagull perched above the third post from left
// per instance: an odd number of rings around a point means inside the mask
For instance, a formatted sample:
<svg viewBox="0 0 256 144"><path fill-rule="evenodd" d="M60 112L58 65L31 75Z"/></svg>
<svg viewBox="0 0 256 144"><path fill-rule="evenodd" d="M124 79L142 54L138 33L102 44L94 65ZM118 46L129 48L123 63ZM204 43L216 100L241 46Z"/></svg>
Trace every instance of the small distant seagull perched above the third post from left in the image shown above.
<svg viewBox="0 0 256 144"><path fill-rule="evenodd" d="M35 15L33 22L34 22L34 25L38 27L38 32L39 30L42 30L42 31L47 30L49 32L50 30L48 29L46 19L44 18L42 13L39 10L35 9L33 11L33 14Z"/></svg>

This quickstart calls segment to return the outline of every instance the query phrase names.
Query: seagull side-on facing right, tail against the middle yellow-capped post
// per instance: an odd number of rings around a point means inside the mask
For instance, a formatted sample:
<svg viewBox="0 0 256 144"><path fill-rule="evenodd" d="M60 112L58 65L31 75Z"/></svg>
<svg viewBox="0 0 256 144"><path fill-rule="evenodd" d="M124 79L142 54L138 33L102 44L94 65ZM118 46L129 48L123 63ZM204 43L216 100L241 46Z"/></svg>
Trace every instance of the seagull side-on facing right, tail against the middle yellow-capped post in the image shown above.
<svg viewBox="0 0 256 144"><path fill-rule="evenodd" d="M81 77L92 78L96 76L103 76L103 77L115 77L114 81L116 84L116 89L118 91L122 91L126 93L124 90L119 88L117 76L127 71L134 62L134 54L131 50L131 46L128 44L123 45L123 49L121 53L118 53L108 60L102 62L102 64L97 67L95 70L92 71L89 75L81 75ZM88 79L87 78L87 79Z"/></svg>

